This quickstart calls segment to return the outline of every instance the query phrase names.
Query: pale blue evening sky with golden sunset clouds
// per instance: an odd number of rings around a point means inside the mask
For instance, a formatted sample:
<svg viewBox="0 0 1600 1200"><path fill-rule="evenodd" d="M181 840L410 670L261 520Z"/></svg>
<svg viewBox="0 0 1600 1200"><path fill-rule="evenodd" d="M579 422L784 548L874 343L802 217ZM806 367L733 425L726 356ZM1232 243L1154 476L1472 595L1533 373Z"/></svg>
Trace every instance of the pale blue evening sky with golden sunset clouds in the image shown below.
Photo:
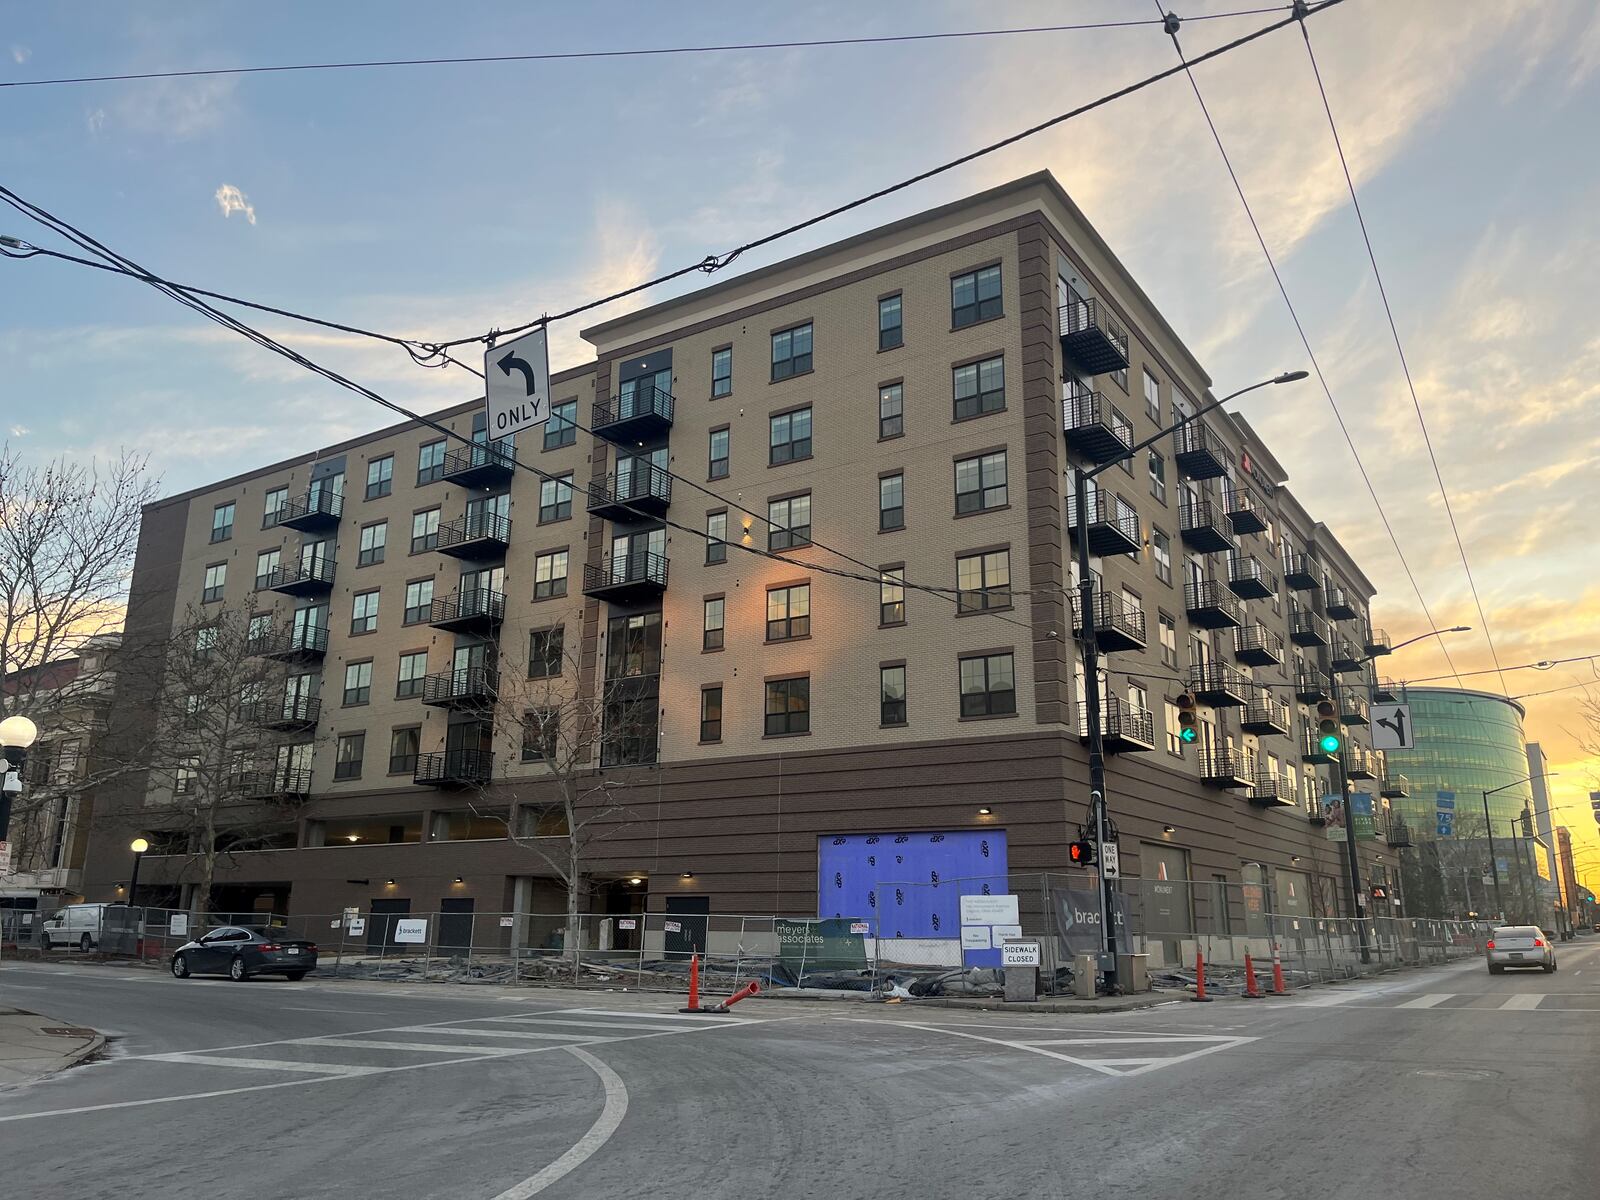
<svg viewBox="0 0 1600 1200"><path fill-rule="evenodd" d="M1194 56L1272 16L1178 8ZM19 5L0 80L272 62L872 37L1154 18L1142 0L1024 3ZM1378 587L1397 678L1526 699L1558 822L1600 886L1581 704L1600 670L1600 8L1346 0L1309 22L1427 438L1294 27L1195 70L1398 541L1315 379L1240 402ZM482 334L608 294L1171 67L1157 26L869 46L325 70L0 90L0 182L170 278L419 338ZM1077 198L1214 390L1309 368L1179 75L741 258L758 267L1037 170ZM59 246L0 208L0 234ZM694 275L648 296L702 283ZM634 301L637 307L646 301ZM552 366L586 360L552 326ZM274 336L394 400L459 371L278 318ZM1264 398L1267 397L1267 398ZM370 402L70 264L0 262L0 438L30 459L150 453L181 491L384 422ZM1402 555L1403 554L1403 562ZM1414 579L1414 589L1413 582ZM1485 624L1504 675L1494 659ZM1490 672L1467 675L1466 672ZM1595 736L1600 736L1597 731Z"/></svg>

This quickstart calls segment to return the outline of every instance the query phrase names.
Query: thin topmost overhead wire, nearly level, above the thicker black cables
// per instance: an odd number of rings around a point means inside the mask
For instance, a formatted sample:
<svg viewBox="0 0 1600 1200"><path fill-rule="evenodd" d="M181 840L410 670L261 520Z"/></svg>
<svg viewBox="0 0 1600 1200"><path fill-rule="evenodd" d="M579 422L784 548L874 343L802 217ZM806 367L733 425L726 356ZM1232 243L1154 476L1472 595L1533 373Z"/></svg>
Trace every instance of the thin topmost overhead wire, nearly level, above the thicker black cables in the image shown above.
<svg viewBox="0 0 1600 1200"><path fill-rule="evenodd" d="M1186 18L1189 21L1218 21L1234 16L1259 16L1262 13L1280 13L1283 5L1272 8L1243 8L1232 13L1208 13L1205 16ZM1027 26L1021 29L955 29L942 34L890 34L882 37L829 37L806 42L741 42L706 46L654 46L642 50L570 50L544 54L470 54L461 58L402 58L402 59L368 59L350 62L280 62L262 67L205 67L194 70L146 70L123 75L72 75L66 78L30 78L0 80L0 88L48 88L67 83L126 83L133 80L155 78L205 78L213 75L272 75L301 70L368 70L374 67L442 67L470 66L488 62L563 62L571 59L606 59L606 58L662 58L678 54L726 54L752 50L814 50L822 46L874 46L893 42L946 42L955 38L978 37L1018 37L1022 34L1069 34L1090 29L1133 29L1139 26L1158 26L1160 21L1090 21L1072 26Z"/></svg>

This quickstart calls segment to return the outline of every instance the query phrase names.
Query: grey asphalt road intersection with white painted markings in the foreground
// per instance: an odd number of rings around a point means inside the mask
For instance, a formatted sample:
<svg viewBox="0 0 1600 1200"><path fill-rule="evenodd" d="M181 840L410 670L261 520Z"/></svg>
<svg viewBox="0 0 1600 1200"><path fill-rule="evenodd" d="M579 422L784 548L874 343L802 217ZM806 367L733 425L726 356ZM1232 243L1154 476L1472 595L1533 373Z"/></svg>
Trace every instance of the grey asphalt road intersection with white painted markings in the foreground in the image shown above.
<svg viewBox="0 0 1600 1200"><path fill-rule="evenodd" d="M1560 954L1088 1018L6 965L112 1043L0 1091L0 1192L1589 1197L1600 939Z"/></svg>

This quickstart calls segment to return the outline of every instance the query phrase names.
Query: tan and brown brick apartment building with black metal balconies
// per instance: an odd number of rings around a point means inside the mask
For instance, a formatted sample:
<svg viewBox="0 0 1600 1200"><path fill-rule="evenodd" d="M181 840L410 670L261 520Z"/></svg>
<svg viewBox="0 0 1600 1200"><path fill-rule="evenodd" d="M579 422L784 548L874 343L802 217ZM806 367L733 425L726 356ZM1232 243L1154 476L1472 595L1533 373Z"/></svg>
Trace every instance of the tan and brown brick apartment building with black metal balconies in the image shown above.
<svg viewBox="0 0 1600 1200"><path fill-rule="evenodd" d="M438 421L472 446L395 426L147 510L130 638L250 597L285 662L256 790L304 803L229 867L232 904L546 906L550 872L506 832L558 834L550 757L496 714L552 677L595 706L614 784L597 910L861 915L902 880L1067 870L1088 790L1072 472L1211 392L1054 178L584 338L594 362L515 445L462 405ZM1123 870L1347 910L1309 730L1336 693L1355 786L1379 789L1373 586L1237 416L1107 470L1090 504ZM123 802L160 822L157 784ZM1363 880L1387 882L1386 851L1363 843ZM141 878L174 883L170 858Z"/></svg>

